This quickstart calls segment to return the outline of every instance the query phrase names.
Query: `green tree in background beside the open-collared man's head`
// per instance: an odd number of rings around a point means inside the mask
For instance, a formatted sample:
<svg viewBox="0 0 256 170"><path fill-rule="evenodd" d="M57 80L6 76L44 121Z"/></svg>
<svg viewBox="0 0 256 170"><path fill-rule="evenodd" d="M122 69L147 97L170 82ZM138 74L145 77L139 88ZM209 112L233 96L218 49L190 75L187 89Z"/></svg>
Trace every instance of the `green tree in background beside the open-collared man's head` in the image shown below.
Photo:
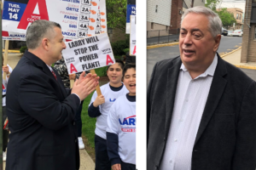
<svg viewBox="0 0 256 170"><path fill-rule="evenodd" d="M222 25L227 28L228 26L233 26L233 23L236 24L236 19L234 14L227 11L227 8L221 8L218 11L219 18L222 21Z"/></svg>

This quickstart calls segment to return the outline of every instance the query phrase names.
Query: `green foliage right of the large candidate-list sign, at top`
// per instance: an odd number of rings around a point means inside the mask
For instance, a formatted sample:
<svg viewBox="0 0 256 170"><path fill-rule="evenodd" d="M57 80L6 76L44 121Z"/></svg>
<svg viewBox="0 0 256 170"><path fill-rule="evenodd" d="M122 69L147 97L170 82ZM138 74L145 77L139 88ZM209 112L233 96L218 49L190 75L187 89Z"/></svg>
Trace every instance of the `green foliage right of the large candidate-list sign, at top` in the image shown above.
<svg viewBox="0 0 256 170"><path fill-rule="evenodd" d="M109 28L119 28L125 31L126 26L126 0L108 0L107 8L107 24Z"/></svg>

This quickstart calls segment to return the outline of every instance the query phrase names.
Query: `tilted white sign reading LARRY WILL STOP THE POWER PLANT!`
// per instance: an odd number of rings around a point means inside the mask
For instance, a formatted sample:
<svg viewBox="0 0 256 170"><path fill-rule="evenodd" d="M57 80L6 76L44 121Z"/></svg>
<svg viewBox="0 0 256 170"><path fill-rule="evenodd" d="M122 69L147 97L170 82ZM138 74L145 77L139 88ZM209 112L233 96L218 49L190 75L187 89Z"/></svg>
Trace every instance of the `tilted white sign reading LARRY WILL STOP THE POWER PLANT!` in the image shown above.
<svg viewBox="0 0 256 170"><path fill-rule="evenodd" d="M68 74L100 68L115 63L108 34L65 42L67 48L62 50Z"/></svg>

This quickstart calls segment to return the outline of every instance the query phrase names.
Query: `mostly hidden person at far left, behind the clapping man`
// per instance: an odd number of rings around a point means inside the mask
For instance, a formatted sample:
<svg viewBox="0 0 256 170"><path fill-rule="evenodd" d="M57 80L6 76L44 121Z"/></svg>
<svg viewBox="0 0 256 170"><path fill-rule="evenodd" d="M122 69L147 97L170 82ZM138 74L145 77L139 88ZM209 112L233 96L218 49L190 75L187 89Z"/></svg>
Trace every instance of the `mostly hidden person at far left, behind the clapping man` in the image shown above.
<svg viewBox="0 0 256 170"><path fill-rule="evenodd" d="M3 125L4 121L6 120L6 90L7 90L7 82L9 80L10 73L12 72L12 68L9 65L3 66L2 73L6 73L5 80L3 79L2 83L2 94L3 94ZM9 130L3 130L3 161L6 161L6 148L8 144L8 137L9 137Z"/></svg>

